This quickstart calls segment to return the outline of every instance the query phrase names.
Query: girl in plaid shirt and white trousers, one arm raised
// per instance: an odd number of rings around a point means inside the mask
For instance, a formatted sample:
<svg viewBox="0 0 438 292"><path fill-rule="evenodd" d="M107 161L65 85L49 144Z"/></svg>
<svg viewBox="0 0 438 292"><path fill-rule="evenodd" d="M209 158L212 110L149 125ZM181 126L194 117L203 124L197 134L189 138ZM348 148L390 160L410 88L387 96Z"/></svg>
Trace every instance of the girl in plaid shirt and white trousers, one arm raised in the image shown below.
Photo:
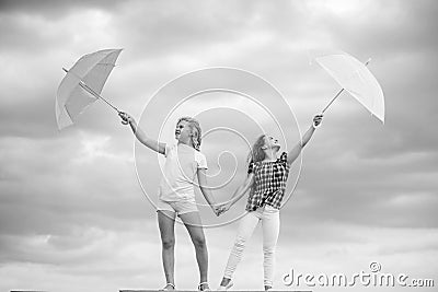
<svg viewBox="0 0 438 292"><path fill-rule="evenodd" d="M249 155L250 166L245 182L235 190L227 203L221 206L221 212L228 211L251 188L245 210L228 258L228 264L218 290L228 290L232 287L232 275L242 258L246 241L253 234L258 222L263 227L263 269L265 291L273 288L274 254L277 245L280 220L279 209L285 195L289 167L300 155L303 147L313 136L322 121L322 115L313 117L313 124L302 137L302 140L289 152L283 152L278 157L280 145L273 137L262 135L255 141Z"/></svg>

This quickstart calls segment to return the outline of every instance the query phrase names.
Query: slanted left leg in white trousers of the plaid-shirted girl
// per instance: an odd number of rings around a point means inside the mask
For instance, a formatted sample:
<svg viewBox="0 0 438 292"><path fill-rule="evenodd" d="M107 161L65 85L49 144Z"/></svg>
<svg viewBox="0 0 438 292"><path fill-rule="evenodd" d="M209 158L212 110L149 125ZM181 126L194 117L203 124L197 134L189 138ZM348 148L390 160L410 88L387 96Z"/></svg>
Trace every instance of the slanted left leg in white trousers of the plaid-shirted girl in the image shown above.
<svg viewBox="0 0 438 292"><path fill-rule="evenodd" d="M226 271L223 273L223 279L220 285L227 287L228 283L231 281L232 275L234 273L235 268L238 267L238 264L242 258L246 241L253 234L255 227L258 224L258 221L260 217L257 211L247 212L240 221L238 235L235 236L234 245L228 258Z"/></svg>

